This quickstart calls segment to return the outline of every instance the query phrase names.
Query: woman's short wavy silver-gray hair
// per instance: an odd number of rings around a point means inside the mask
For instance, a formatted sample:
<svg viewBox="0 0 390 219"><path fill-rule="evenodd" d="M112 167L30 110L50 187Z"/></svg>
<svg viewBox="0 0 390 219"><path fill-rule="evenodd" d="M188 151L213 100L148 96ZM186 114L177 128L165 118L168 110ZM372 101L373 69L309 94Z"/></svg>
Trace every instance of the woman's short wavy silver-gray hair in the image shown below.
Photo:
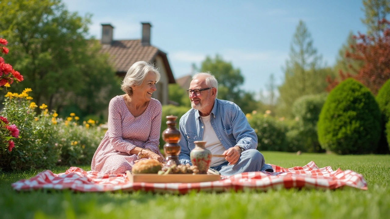
<svg viewBox="0 0 390 219"><path fill-rule="evenodd" d="M156 83L160 81L160 72L158 72L158 69L154 65L144 61L134 63L127 71L126 76L124 76L121 89L126 94L133 95L133 88L131 86L140 86L149 72L156 74Z"/></svg>

